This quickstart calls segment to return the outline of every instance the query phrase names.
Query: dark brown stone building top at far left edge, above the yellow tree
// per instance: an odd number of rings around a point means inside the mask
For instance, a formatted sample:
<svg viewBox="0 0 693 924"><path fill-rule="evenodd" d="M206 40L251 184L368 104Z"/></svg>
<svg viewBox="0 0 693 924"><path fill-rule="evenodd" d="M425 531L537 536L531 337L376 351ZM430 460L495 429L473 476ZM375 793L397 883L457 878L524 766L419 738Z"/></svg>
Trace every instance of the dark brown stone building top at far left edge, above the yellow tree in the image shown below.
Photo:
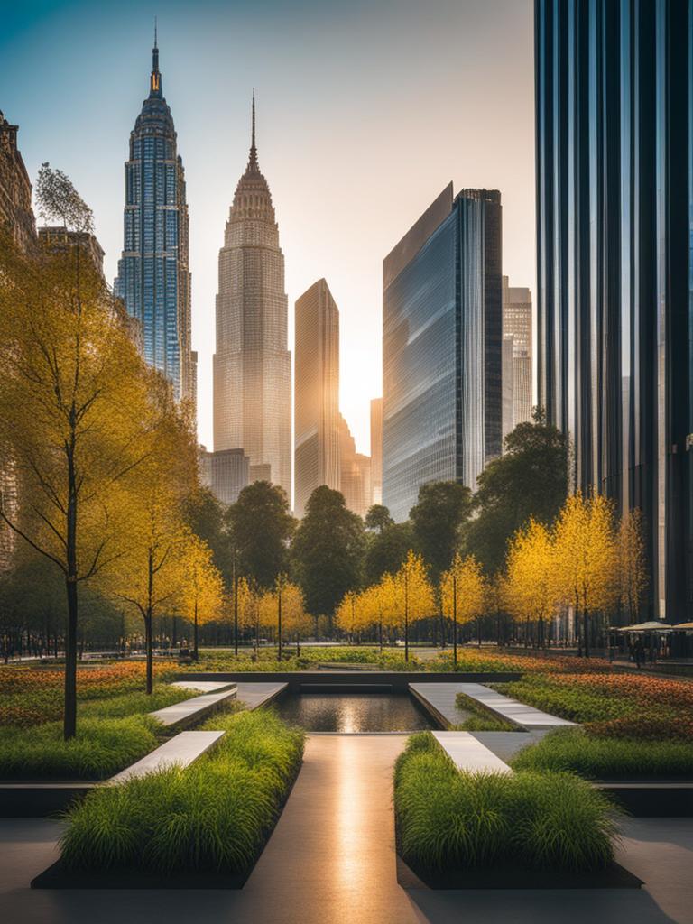
<svg viewBox="0 0 693 924"><path fill-rule="evenodd" d="M9 228L18 247L36 243L36 222L31 210L31 183L17 146L19 127L0 112L0 225Z"/></svg>

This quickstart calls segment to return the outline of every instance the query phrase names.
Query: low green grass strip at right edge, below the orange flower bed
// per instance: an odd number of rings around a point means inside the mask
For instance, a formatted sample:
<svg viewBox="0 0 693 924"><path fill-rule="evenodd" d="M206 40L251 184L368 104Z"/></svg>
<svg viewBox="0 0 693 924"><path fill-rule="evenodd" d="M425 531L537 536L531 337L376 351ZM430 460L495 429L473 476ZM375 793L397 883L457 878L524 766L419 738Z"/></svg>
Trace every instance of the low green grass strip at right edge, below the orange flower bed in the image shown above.
<svg viewBox="0 0 693 924"><path fill-rule="evenodd" d="M593 780L693 777L693 743L594 737L557 728L510 761L517 771L570 771Z"/></svg>

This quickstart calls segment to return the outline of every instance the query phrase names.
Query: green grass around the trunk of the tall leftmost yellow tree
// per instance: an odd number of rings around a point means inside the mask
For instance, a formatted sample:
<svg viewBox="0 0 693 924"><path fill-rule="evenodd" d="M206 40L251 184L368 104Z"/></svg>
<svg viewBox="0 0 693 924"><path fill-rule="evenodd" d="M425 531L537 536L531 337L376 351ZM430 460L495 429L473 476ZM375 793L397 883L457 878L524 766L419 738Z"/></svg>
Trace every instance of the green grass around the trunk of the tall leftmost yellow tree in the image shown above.
<svg viewBox="0 0 693 924"><path fill-rule="evenodd" d="M144 715L80 719L69 741L57 722L0 728L0 779L102 780L153 750L158 727Z"/></svg>

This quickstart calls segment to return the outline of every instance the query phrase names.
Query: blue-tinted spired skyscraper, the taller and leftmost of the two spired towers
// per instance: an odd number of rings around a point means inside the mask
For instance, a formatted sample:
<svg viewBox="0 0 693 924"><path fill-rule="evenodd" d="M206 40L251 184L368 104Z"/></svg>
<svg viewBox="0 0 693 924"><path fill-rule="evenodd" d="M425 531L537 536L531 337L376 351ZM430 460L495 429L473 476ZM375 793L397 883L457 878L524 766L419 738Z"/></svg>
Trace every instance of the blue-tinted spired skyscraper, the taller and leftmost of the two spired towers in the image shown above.
<svg viewBox="0 0 693 924"><path fill-rule="evenodd" d="M114 288L141 324L144 359L170 380L176 398L194 401L185 174L164 99L156 36L149 96L130 132L124 245Z"/></svg>

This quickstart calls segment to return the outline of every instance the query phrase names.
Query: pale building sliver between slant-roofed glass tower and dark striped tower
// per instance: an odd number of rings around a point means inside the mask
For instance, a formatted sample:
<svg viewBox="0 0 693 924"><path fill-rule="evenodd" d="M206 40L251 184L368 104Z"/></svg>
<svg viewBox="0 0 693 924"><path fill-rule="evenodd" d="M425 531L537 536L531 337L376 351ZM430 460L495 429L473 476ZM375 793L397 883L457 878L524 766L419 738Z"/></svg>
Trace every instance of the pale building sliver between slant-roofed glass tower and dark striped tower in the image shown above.
<svg viewBox="0 0 693 924"><path fill-rule="evenodd" d="M504 371L504 398L512 396L504 436L532 416L532 296L529 288L509 286L503 277L503 338L512 340L512 356ZM505 412L504 412L505 418ZM507 426L507 429L505 429Z"/></svg>

